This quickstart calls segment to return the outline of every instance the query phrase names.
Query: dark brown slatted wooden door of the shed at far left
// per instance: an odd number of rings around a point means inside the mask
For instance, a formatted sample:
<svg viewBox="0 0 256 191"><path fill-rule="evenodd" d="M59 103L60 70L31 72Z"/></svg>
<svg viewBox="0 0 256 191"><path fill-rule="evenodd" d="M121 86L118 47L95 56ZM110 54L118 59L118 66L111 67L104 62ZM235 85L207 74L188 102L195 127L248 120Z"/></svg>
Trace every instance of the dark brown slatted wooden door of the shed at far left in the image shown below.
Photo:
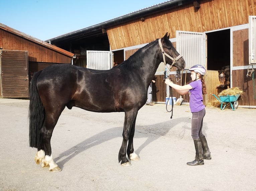
<svg viewBox="0 0 256 191"><path fill-rule="evenodd" d="M1 50L1 97L29 97L28 52Z"/></svg>

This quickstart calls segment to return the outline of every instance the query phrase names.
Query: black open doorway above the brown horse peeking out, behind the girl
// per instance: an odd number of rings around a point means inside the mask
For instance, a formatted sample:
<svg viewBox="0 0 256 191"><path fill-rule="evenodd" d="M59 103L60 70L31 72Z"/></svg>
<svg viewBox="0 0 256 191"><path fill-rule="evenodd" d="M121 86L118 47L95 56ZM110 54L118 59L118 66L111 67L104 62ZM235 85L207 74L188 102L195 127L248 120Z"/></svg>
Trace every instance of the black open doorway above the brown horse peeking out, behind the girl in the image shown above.
<svg viewBox="0 0 256 191"><path fill-rule="evenodd" d="M220 70L230 66L230 29L207 35L207 70Z"/></svg>

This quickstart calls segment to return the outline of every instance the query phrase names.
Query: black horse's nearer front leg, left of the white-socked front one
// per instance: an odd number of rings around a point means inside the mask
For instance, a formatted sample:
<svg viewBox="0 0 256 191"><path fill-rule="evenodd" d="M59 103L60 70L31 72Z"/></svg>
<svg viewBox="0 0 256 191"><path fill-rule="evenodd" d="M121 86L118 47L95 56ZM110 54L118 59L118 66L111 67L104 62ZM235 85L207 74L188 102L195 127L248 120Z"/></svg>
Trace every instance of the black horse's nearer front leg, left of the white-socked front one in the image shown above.
<svg viewBox="0 0 256 191"><path fill-rule="evenodd" d="M130 137L130 133L131 133L131 129L132 129L132 124L136 120L137 113L138 113L138 110L131 110L131 111L125 112L123 142L122 142L121 148L119 150L119 154L118 154L118 161L121 162L122 166L131 166L131 163L126 158L126 148L127 148L127 141ZM133 132L133 134L134 134L134 132ZM132 143L131 143L131 145L132 145ZM131 145L130 145L130 147L131 147ZM133 148L129 148L129 150L131 150L131 149L133 152Z"/></svg>

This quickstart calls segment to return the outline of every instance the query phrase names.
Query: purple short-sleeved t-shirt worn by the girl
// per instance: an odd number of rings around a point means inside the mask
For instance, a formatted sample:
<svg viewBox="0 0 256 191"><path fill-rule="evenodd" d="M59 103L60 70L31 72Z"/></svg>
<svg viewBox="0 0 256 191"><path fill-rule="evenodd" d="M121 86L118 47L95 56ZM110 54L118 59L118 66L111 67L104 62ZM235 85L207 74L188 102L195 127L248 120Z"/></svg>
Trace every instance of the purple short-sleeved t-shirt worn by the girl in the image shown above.
<svg viewBox="0 0 256 191"><path fill-rule="evenodd" d="M194 81L189 83L189 85L193 88L189 90L189 106L191 112L198 112L205 108L203 104L203 93L202 93L202 82L201 80Z"/></svg>

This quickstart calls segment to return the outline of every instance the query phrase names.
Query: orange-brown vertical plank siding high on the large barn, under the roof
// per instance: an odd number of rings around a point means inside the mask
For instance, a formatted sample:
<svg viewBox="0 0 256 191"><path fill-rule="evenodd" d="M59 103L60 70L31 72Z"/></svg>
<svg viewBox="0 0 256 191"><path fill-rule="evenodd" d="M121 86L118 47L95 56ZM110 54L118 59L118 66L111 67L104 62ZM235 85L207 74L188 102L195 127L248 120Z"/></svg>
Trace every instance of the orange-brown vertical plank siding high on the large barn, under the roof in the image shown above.
<svg viewBox="0 0 256 191"><path fill-rule="evenodd" d="M112 50L145 44L176 30L205 32L248 23L248 16L256 14L255 0L202 0L195 11L193 2L138 18L107 29Z"/></svg>

